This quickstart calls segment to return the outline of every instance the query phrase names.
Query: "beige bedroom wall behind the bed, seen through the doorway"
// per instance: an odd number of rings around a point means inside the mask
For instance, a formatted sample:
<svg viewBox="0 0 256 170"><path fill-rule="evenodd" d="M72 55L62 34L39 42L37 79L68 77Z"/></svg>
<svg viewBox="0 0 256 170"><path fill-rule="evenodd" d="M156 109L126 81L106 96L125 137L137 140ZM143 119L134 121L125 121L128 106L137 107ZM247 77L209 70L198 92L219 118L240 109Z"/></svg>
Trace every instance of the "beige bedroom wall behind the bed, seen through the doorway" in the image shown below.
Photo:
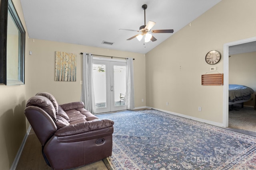
<svg viewBox="0 0 256 170"><path fill-rule="evenodd" d="M256 92L256 52L232 55L229 58L229 83L241 84L252 88ZM246 102L244 105L254 106L253 101Z"/></svg>

